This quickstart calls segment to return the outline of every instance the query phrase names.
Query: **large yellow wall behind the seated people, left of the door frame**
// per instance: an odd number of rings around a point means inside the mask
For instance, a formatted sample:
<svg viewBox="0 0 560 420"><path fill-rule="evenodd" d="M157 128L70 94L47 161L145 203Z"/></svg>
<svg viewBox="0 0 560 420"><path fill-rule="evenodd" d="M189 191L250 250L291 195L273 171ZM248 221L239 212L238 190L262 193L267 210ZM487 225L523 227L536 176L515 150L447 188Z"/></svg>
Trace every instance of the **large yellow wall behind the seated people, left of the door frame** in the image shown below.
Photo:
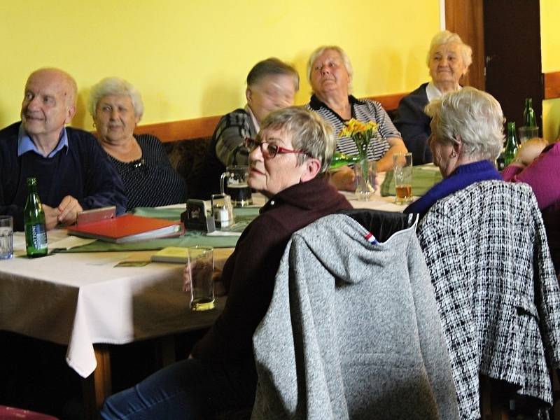
<svg viewBox="0 0 560 420"><path fill-rule="evenodd" d="M550 0L556 1L556 0ZM311 50L335 43L355 69L356 96L426 81L438 0L22 0L0 2L0 127L19 119L25 80L57 66L78 83L77 127L92 129L92 84L120 76L144 97L142 123L223 114L245 103L246 74L270 56L295 64L309 99Z"/></svg>

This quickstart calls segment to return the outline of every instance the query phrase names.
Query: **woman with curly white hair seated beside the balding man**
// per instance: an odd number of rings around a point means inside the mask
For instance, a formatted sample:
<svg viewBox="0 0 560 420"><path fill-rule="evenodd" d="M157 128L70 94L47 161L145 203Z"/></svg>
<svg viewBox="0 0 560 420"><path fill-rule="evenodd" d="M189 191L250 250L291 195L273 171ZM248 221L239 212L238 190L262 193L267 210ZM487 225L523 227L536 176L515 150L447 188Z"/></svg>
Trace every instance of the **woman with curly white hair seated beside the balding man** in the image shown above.
<svg viewBox="0 0 560 420"><path fill-rule="evenodd" d="M185 180L172 168L160 140L133 134L144 113L133 85L122 78L104 78L92 87L89 111L97 140L123 180L127 210L185 202Z"/></svg>

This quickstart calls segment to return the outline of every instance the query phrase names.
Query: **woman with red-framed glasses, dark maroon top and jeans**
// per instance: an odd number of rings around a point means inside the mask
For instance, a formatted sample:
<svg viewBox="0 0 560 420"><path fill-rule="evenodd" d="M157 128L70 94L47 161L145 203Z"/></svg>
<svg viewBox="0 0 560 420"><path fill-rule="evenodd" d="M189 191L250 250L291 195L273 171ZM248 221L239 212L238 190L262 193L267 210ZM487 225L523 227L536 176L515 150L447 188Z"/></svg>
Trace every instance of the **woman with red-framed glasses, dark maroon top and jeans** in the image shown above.
<svg viewBox="0 0 560 420"><path fill-rule="evenodd" d="M335 137L313 113L297 107L274 111L262 121L257 138L246 144L248 185L269 201L225 262L221 283L228 300L222 314L195 344L190 358L108 398L103 419L206 419L231 410L250 413L257 384L253 332L272 300L284 248L296 230L351 205L323 176ZM200 267L186 267L188 291L191 269Z"/></svg>

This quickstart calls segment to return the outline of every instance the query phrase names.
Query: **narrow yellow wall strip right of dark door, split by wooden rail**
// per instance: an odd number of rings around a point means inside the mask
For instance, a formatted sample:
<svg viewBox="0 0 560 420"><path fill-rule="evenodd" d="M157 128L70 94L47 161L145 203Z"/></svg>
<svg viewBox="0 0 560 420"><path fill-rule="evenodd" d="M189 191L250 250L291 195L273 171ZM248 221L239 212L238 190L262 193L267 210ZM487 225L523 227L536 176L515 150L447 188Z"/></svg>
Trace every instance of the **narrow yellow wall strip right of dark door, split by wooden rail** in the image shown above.
<svg viewBox="0 0 560 420"><path fill-rule="evenodd" d="M540 0L542 72L560 71L560 1ZM554 141L560 134L560 99L542 102L543 136Z"/></svg>

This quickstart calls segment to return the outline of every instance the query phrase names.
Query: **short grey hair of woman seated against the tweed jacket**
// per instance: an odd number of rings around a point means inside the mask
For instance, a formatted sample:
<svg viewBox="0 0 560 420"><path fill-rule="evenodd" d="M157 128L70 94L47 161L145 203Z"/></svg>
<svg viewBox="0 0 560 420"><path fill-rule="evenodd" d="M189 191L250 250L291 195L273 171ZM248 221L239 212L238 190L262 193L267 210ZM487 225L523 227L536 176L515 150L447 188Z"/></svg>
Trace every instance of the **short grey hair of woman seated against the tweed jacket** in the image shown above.
<svg viewBox="0 0 560 420"><path fill-rule="evenodd" d="M503 146L502 107L475 87L463 87L434 99L424 109L432 118L434 137L441 144L463 142L463 153L495 160Z"/></svg>

